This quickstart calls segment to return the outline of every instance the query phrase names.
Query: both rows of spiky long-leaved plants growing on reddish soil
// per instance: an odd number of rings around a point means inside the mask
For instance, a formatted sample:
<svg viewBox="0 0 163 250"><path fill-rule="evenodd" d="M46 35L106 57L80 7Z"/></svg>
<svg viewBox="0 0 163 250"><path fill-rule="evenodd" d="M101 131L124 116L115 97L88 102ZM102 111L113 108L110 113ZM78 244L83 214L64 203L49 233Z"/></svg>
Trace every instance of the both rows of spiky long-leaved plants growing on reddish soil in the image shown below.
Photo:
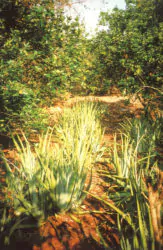
<svg viewBox="0 0 163 250"><path fill-rule="evenodd" d="M11 164L4 158L8 173L5 205L16 215L9 237L15 229L26 226L22 225L26 218L43 221L81 204L91 185L92 167L104 152L100 113L97 104L78 103L59 117L37 145L31 145L25 135L23 140L14 139L18 162ZM117 214L121 249L154 250L161 246L155 242L147 186L149 179L157 177L155 146L160 124L146 119L124 123L121 140L117 142L115 137L110 154L114 169L101 173L113 182L108 193L114 203L96 198ZM6 210L1 231L6 229L5 221Z"/></svg>

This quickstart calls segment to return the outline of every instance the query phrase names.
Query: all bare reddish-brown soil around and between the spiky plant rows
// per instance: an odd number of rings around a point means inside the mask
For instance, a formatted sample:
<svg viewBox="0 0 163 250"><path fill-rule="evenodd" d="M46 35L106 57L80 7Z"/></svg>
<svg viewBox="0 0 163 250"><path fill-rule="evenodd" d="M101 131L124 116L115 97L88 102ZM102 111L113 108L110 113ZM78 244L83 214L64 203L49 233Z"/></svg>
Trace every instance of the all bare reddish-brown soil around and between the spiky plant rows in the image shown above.
<svg viewBox="0 0 163 250"><path fill-rule="evenodd" d="M47 109L51 122L55 121L57 112L62 112L65 106L71 106L77 100L99 101L105 108L103 125L106 128L104 141L109 144L113 134L120 127L120 123L126 117L140 115L142 106L139 102L131 101L127 105L127 99L120 96L99 96L99 97L76 97L60 102L54 107ZM14 151L8 151L8 157L14 157ZM96 166L93 173L93 181L90 192L99 197L106 196L105 192L109 184L98 175ZM4 171L1 170L1 181L4 182ZM3 179L2 179L3 178ZM98 212L97 212L98 211ZM21 240L20 240L21 239ZM107 213L103 204L87 196L80 208L80 214L64 214L53 216L40 228L39 231L22 230L19 233L19 241L15 234L12 242L12 250L100 250L104 249L100 242L105 239L108 249L117 249L118 237L114 228L114 220Z"/></svg>

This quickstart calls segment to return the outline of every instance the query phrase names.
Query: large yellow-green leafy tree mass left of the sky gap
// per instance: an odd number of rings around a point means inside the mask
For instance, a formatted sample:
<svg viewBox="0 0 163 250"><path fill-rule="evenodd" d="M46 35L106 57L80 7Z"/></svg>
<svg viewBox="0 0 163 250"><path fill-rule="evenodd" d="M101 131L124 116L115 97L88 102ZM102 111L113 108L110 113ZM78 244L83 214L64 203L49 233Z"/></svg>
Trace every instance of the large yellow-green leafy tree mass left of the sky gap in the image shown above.
<svg viewBox="0 0 163 250"><path fill-rule="evenodd" d="M76 86L81 90L89 59L84 28L78 19L65 17L62 8L54 9L52 0L39 4L3 0L1 6L0 113L4 130L5 123L18 122L29 104L32 114L33 107L52 103L60 93Z"/></svg>

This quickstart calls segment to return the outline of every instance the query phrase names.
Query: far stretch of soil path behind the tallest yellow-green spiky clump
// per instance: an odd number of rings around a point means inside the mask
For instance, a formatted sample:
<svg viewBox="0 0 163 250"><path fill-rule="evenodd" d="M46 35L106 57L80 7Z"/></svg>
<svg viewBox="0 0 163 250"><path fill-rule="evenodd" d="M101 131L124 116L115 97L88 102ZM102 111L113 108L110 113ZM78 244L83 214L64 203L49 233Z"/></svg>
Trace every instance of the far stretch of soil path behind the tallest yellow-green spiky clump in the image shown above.
<svg viewBox="0 0 163 250"><path fill-rule="evenodd" d="M127 117L139 116L142 112L143 106L138 100L128 99L123 96L86 96L86 97L74 97L69 98L67 101L57 103L53 107L47 109L47 113L53 123L55 121L56 113L62 112L62 110L73 105L77 101L88 100L96 101L103 105L105 114L103 117L103 125L105 127L105 138L112 138L113 134L117 132L120 127L120 123Z"/></svg>

